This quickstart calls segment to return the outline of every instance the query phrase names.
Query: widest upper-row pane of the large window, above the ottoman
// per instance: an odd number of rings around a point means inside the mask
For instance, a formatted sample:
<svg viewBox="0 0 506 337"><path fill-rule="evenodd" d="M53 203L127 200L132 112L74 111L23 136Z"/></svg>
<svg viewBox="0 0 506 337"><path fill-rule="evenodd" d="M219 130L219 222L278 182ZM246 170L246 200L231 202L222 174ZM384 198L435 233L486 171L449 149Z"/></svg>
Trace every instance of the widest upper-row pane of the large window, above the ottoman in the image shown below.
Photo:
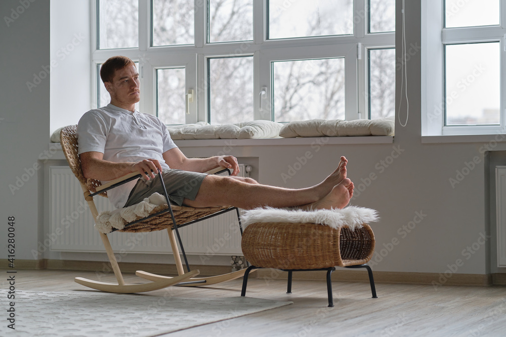
<svg viewBox="0 0 506 337"><path fill-rule="evenodd" d="M352 0L269 0L269 37L353 34Z"/></svg>

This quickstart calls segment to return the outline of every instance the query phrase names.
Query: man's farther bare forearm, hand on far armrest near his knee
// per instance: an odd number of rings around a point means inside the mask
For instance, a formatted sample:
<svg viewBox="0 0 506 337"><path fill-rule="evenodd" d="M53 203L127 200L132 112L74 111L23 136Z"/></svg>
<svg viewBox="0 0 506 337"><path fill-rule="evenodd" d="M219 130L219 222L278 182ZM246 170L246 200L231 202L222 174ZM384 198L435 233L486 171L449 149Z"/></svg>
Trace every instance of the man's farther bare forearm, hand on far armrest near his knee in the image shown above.
<svg viewBox="0 0 506 337"><path fill-rule="evenodd" d="M163 153L163 159L168 166L193 172L206 172L223 166L232 169L231 175L239 173L239 164L234 156L215 156L209 158L187 158L179 148L174 148Z"/></svg>

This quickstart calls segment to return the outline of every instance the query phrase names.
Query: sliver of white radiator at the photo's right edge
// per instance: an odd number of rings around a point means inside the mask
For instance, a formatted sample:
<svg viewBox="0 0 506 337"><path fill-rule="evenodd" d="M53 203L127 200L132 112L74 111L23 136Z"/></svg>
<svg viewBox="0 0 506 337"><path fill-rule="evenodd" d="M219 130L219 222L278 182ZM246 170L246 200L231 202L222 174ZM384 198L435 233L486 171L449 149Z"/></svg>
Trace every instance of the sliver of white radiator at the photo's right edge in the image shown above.
<svg viewBox="0 0 506 337"><path fill-rule="evenodd" d="M506 166L495 167L497 266L506 267Z"/></svg>

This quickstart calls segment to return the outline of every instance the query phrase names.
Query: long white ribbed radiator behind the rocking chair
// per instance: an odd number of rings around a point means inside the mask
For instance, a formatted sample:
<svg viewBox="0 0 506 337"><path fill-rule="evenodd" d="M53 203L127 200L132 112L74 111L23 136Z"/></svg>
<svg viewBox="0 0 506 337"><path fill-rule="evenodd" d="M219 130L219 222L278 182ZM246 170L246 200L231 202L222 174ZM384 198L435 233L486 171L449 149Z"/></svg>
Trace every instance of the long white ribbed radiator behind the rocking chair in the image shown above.
<svg viewBox="0 0 506 337"><path fill-rule="evenodd" d="M248 168L249 169L249 168ZM247 176L246 167L241 173ZM249 170L248 170L249 171ZM50 168L50 233L52 251L104 252L102 240L94 228L79 182L68 166ZM107 198L96 196L99 212L112 210ZM235 211L180 228L188 255L242 255L241 235ZM166 231L117 233L107 235L114 251L172 254Z"/></svg>

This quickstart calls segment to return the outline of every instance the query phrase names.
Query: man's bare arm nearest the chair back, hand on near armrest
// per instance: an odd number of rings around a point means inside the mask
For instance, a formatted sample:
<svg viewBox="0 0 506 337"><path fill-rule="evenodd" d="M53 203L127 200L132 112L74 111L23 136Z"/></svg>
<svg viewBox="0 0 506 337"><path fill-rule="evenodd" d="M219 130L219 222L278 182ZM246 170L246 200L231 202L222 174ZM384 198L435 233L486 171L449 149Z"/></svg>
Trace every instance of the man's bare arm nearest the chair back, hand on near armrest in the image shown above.
<svg viewBox="0 0 506 337"><path fill-rule="evenodd" d="M156 159L144 159L135 163L114 163L104 160L101 152L84 152L79 155L82 174L86 178L97 180L113 180L130 172L139 172L145 178L154 178L153 172L161 171L161 165ZM149 172L149 176L146 174Z"/></svg>

